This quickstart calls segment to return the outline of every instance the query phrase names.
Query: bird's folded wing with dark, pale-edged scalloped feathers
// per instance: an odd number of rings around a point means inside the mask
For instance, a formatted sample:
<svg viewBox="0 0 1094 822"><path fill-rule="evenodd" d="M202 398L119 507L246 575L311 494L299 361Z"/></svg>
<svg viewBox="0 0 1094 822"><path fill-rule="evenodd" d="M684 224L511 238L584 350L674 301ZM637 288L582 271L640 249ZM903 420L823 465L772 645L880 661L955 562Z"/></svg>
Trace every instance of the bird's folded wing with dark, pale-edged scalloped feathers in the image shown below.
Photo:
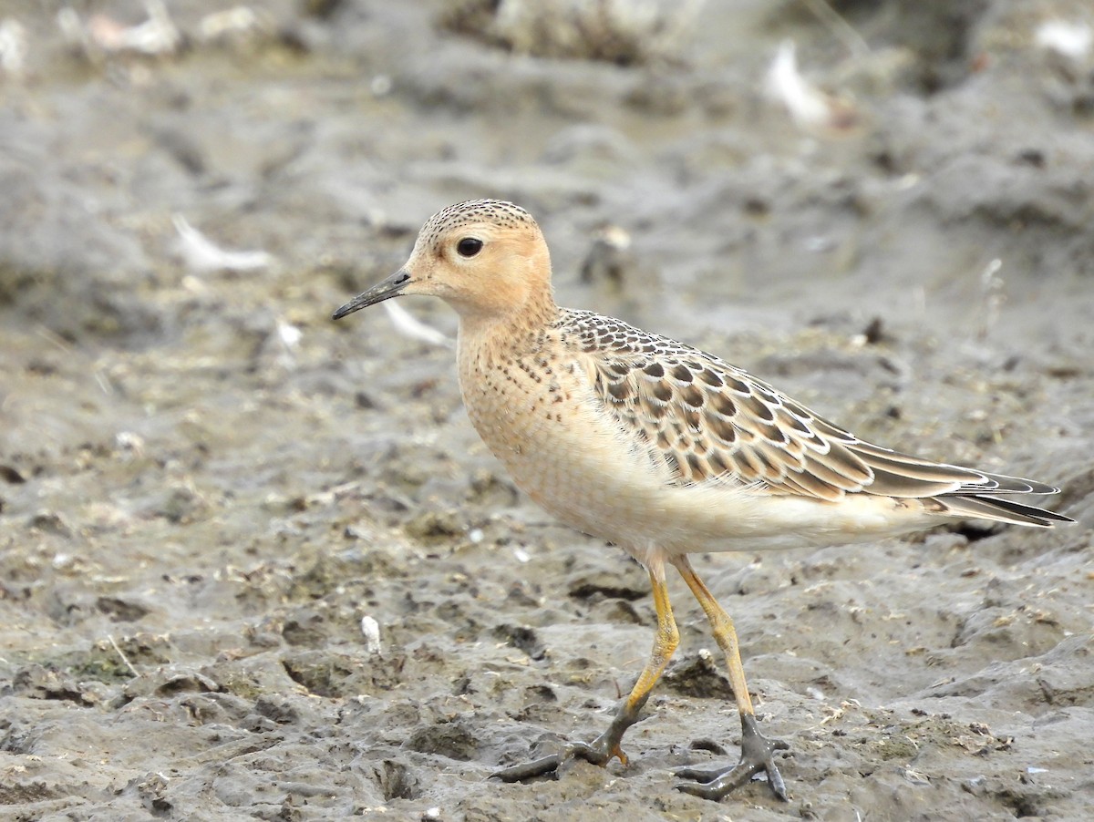
<svg viewBox="0 0 1094 822"><path fill-rule="evenodd" d="M568 320L596 395L674 484L726 482L828 502L1055 491L860 441L747 372L619 320L589 312Z"/></svg>

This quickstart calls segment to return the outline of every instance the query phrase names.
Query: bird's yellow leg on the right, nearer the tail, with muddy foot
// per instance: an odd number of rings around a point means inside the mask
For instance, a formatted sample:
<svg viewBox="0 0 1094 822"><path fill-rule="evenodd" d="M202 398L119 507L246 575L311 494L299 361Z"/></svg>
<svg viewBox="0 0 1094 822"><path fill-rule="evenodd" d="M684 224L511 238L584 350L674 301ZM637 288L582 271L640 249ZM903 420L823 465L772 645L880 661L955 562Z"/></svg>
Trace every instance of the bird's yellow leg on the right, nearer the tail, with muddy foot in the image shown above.
<svg viewBox="0 0 1094 822"><path fill-rule="evenodd" d="M733 696L737 701L737 711L741 714L741 761L731 767L710 771L682 768L676 772L677 776L696 782L682 783L676 787L688 794L717 801L764 771L767 773L771 790L777 797L785 800L787 786L779 768L775 765L772 754L776 751L784 751L790 745L780 740L768 740L759 732L752 696L748 695L748 684L745 682L745 667L741 661L741 645L737 642L736 629L733 627L733 620L718 604L714 595L695 573L686 555L673 559L672 563L684 577L684 582L687 583L687 587L691 589L695 598L699 600L699 604L710 622L714 641L725 654L725 661L730 668L730 684L733 685Z"/></svg>

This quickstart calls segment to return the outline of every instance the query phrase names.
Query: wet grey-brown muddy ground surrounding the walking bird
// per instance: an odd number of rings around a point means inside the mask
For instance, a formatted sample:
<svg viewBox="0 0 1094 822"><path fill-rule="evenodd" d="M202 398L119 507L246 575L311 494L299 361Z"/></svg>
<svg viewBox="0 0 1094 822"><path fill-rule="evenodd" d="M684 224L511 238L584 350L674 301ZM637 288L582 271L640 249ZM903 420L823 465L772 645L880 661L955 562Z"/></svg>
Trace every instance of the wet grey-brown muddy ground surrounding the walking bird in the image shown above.
<svg viewBox="0 0 1094 822"><path fill-rule="evenodd" d="M0 818L1094 817L1094 56L1036 34L1081 46L1089 5L709 0L560 56L488 7L280 0L214 35L228 4L168 2L186 39L147 57L103 47L140 3L62 14L106 15L89 47L0 4ZM765 92L788 38L831 122ZM678 580L630 764L487 780L598 732L653 616L485 450L450 348L329 320L484 196L539 219L563 304L1063 486L1070 528L697 559L789 803L673 789L738 732ZM202 266L178 216L267 265Z"/></svg>

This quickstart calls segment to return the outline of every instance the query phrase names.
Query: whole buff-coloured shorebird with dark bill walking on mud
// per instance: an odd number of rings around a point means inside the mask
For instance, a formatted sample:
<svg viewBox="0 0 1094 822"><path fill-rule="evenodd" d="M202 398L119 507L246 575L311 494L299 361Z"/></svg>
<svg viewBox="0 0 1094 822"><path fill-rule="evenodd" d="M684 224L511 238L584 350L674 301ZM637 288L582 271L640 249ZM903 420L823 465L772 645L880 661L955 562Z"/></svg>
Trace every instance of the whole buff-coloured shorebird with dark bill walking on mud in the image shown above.
<svg viewBox="0 0 1094 822"><path fill-rule="evenodd" d="M676 787L717 800L763 771L785 799L773 754L788 745L760 733L733 621L688 554L873 540L954 518L1071 521L1014 501L1055 488L872 445L712 354L560 308L550 274L547 243L526 211L473 200L430 218L407 263L334 315L401 294L447 302L459 314L459 388L487 446L539 505L649 572L653 653L607 730L494 774L505 782L570 758L626 764L624 732L679 641L667 564L710 620L742 726L737 764L684 768L687 782Z"/></svg>

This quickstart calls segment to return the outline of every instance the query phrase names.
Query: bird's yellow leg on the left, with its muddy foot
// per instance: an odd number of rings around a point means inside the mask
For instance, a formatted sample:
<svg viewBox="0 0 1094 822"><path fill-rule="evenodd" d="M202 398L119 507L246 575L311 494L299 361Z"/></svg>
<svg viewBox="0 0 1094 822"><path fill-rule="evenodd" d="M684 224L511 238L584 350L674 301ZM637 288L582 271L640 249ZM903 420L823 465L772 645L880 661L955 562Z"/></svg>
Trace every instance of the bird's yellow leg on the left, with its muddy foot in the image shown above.
<svg viewBox="0 0 1094 822"><path fill-rule="evenodd" d="M552 773L567 760L578 758L594 765L607 765L613 758L627 764L627 754L619 743L627 729L638 721L642 706L650 698L653 685L679 644L679 632L673 619L673 610L668 603L668 588L665 585L665 566L660 560L649 566L650 585L653 588L653 607L657 612L657 633L653 639L653 650L650 661L645 664L642 673L631 689L630 694L619 705L615 718L601 736L592 742L570 742L558 753L544 756L532 762L502 768L490 774L503 782L522 782L535 776Z"/></svg>

